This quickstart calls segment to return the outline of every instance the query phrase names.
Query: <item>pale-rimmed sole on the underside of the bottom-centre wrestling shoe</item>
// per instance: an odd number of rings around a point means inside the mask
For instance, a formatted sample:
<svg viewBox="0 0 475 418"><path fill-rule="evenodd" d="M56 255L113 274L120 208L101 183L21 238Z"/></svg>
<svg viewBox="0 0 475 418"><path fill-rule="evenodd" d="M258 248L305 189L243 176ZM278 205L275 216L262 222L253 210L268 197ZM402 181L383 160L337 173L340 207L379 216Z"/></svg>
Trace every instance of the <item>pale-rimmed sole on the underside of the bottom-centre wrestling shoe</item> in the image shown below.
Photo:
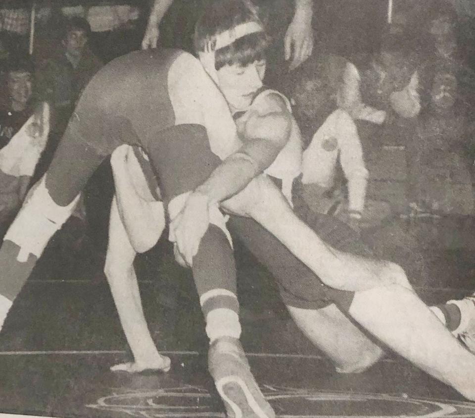
<svg viewBox="0 0 475 418"><path fill-rule="evenodd" d="M233 410L234 418L275 418L275 414L267 413L259 405L244 380L238 376L232 375L219 379L216 382L216 389L223 401ZM260 393L258 397L264 399Z"/></svg>

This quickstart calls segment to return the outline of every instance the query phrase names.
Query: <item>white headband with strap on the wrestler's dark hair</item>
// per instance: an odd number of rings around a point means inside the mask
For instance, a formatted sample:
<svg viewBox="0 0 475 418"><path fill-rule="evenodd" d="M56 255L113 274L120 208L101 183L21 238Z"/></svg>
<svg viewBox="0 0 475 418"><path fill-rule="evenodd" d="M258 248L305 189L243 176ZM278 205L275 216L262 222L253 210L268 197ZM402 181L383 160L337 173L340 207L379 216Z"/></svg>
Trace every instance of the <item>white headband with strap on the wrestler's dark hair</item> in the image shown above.
<svg viewBox="0 0 475 418"><path fill-rule="evenodd" d="M205 47L205 51L198 52L199 60L203 65L206 72L218 84L218 73L215 68L216 63L216 50L227 47L233 42L242 38L243 36L250 35L251 33L264 32L264 28L257 22L246 22L241 23L240 25L229 29L227 31L221 32L216 35L214 45L211 46L211 43Z"/></svg>

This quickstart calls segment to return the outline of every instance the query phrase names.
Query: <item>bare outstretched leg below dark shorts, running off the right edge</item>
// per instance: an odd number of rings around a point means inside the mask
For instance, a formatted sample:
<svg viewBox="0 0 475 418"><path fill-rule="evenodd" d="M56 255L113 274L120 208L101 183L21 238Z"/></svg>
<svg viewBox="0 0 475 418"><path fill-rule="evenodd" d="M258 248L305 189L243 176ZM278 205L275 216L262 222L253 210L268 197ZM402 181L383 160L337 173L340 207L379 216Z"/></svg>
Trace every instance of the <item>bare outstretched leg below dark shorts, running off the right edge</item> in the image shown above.
<svg viewBox="0 0 475 418"><path fill-rule="evenodd" d="M356 292L349 313L396 353L475 400L475 356L414 292L397 284Z"/></svg>

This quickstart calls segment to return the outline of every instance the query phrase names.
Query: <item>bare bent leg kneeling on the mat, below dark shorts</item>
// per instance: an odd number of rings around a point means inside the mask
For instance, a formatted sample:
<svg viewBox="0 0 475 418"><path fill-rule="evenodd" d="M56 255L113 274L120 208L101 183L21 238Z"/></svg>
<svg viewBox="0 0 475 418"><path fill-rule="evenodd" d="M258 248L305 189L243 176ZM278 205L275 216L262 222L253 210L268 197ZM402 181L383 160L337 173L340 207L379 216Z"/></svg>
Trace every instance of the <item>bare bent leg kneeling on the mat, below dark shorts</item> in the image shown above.
<svg viewBox="0 0 475 418"><path fill-rule="evenodd" d="M332 360L340 373L364 371L384 355L335 305L319 310L292 306L287 309L300 330Z"/></svg>

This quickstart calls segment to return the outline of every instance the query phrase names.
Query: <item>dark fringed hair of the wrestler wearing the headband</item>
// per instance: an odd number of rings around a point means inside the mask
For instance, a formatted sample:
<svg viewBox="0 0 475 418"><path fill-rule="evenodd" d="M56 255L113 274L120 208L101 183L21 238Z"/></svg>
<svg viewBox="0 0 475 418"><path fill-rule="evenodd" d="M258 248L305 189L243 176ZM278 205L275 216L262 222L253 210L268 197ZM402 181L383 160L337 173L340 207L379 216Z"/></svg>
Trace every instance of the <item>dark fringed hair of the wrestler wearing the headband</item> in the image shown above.
<svg viewBox="0 0 475 418"><path fill-rule="evenodd" d="M258 16L258 9L248 0L211 0L205 7L195 26L194 48L196 52L206 51L213 46L216 36L233 29L241 23L256 22L265 28ZM215 52L215 68L238 64L245 66L264 59L270 38L263 32L251 33L238 38L231 45Z"/></svg>

